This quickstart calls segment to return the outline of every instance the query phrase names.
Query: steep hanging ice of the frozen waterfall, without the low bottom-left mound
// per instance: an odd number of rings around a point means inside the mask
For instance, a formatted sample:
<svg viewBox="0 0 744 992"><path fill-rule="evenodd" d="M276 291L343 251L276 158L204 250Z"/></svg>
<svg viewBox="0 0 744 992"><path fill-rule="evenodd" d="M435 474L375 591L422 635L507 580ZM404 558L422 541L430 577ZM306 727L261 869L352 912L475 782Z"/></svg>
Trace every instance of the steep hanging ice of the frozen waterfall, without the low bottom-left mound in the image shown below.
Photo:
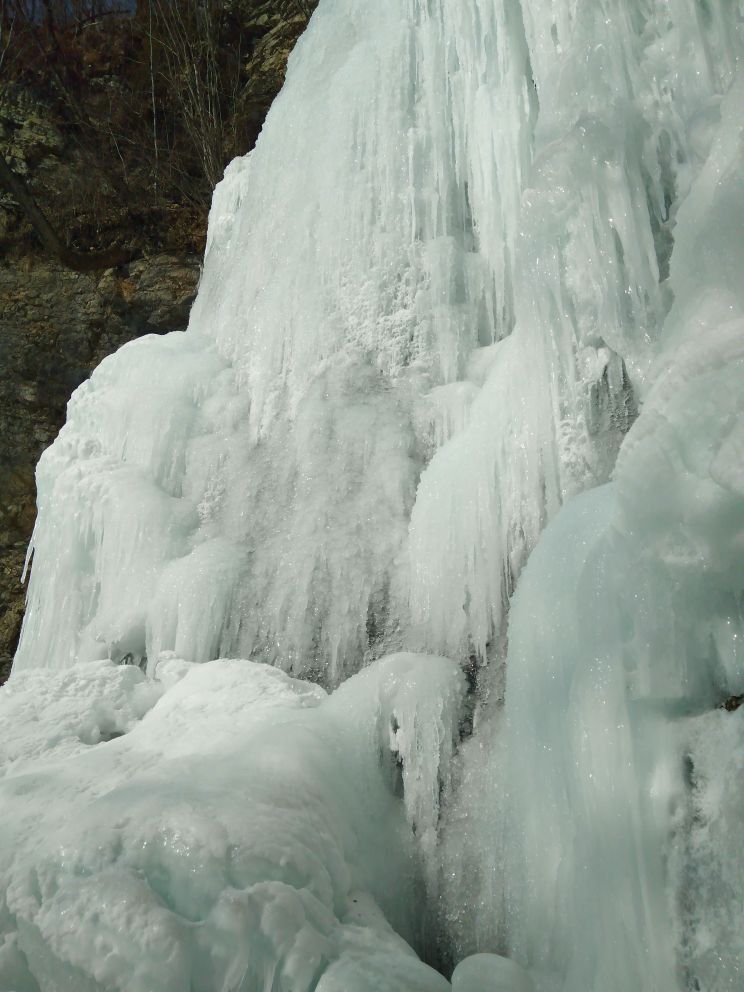
<svg viewBox="0 0 744 992"><path fill-rule="evenodd" d="M442 942L539 992L733 987L735 899L690 893L736 874L743 18L321 0L188 331L103 363L39 467L17 671L491 663L413 795Z"/></svg>

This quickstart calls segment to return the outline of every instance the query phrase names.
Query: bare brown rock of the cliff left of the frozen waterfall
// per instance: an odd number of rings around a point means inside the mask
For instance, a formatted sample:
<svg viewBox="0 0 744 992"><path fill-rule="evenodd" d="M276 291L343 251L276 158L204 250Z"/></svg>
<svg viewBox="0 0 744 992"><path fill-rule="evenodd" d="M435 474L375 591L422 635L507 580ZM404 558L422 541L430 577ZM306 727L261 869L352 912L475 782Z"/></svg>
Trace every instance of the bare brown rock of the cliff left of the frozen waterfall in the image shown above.
<svg viewBox="0 0 744 992"><path fill-rule="evenodd" d="M240 96L241 113L251 122L249 142L283 83L289 52L314 5L243 5L253 39ZM0 83L0 153L67 234L76 220L75 188L79 194L89 177L54 94L43 85ZM143 189L141 203L136 187L128 197L126 211L106 233L138 246L139 257L117 269L80 273L44 252L13 198L0 190L0 684L10 672L23 619L21 574L35 519L35 466L64 421L70 394L127 341L183 329L196 293L206 209L165 202L154 214L151 190ZM143 217L146 224L138 226Z"/></svg>

